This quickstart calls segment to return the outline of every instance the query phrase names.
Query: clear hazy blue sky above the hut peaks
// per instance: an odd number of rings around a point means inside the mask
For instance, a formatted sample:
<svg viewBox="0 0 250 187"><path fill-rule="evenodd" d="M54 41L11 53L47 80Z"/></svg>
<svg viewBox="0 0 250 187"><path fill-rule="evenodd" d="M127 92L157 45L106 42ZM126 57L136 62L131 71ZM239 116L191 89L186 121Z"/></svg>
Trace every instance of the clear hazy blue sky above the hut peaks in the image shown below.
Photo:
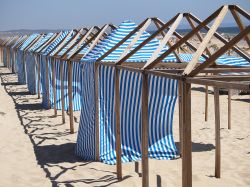
<svg viewBox="0 0 250 187"><path fill-rule="evenodd" d="M147 17L167 21L178 12L205 19L224 4L250 12L250 0L0 0L0 31L119 25L128 19L139 24ZM224 22L233 20L227 16Z"/></svg>

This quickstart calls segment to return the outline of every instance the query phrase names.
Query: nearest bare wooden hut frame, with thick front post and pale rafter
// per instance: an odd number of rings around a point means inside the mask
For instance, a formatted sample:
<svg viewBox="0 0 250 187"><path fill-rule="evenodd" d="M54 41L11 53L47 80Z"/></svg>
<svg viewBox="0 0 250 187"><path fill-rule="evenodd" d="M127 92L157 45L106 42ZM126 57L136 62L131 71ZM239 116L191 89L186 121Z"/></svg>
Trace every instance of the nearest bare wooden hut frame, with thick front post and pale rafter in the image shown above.
<svg viewBox="0 0 250 187"><path fill-rule="evenodd" d="M217 11L215 11L211 16L201 22L194 30L188 33L182 40L178 41L174 44L171 48L169 48L166 52L164 52L161 56L157 57L155 60L148 62L145 64L143 68L140 69L140 72L143 75L143 97L142 97L142 106L145 107L143 110L143 126L145 127L143 131L143 137L148 136L148 113L147 113L147 105L148 105L148 76L151 74L164 76L171 79L179 80L180 81L180 88L181 88L181 98L182 98L182 105L181 105L181 123L182 123L182 186L190 187L192 186L192 154L191 154L191 84L200 84L200 85L207 85L207 86L214 86L215 87L215 132L216 132L216 156L215 156L215 176L217 178L220 177L220 119L219 119L219 88L235 88L235 89L243 89L243 90L250 90L249 83L249 75L247 76L226 76L226 75L208 75L208 76L197 76L198 74L202 73L221 73L221 72L248 72L249 68L234 68L232 66L220 66L214 65L214 61L218 59L222 54L224 54L228 49L232 48L233 50L238 50L236 43L246 37L250 33L250 27L242 26L241 32L236 35L232 40L229 42L224 42L225 45L212 54L208 59L205 60L203 63L199 63L199 58L205 48L208 45L211 37L215 35L215 31L218 26L221 24L221 21L225 17L228 10L237 11L238 13L247 16L249 19L249 14L243 11L241 8L235 5L223 6ZM214 20L215 19L215 20ZM157 64L161 63L162 60L167 57L171 52L176 50L181 44L187 41L190 37L194 34L198 33L199 30L204 28L205 25L209 24L212 20L214 20L211 29L209 29L208 33L205 35L202 43L198 47L197 51L195 52L192 60L190 63L186 64L186 67L181 70L181 72L176 74L176 70L167 70L164 69L155 69ZM247 55L243 54L242 51L239 51L242 56L246 57ZM248 59L249 61L249 59ZM128 67L121 67L120 69L128 69ZM209 67L209 68L208 68ZM171 68L171 67L169 67ZM132 68L131 68L132 70ZM135 70L134 70L135 71ZM137 71L139 71L137 69ZM144 138L144 146L142 149L145 150L144 158L143 158L143 186L148 186L148 152L147 152L147 138Z"/></svg>

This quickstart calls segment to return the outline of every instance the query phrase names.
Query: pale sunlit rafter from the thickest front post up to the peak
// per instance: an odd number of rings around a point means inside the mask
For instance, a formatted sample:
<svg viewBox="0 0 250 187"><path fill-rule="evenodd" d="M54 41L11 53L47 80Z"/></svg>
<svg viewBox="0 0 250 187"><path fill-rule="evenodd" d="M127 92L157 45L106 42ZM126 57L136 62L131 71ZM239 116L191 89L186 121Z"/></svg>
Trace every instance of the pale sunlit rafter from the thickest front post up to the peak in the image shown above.
<svg viewBox="0 0 250 187"><path fill-rule="evenodd" d="M220 26L221 22L223 21L224 17L226 16L228 11L228 6L225 5L222 10L220 11L218 17L215 19L212 27L202 40L201 44L199 45L199 48L195 52L192 60L188 63L187 67L185 68L183 75L188 75L190 72L194 69L195 65L199 62L200 56L203 53L203 51L206 49L209 41L213 37L214 33L216 32L217 28Z"/></svg>

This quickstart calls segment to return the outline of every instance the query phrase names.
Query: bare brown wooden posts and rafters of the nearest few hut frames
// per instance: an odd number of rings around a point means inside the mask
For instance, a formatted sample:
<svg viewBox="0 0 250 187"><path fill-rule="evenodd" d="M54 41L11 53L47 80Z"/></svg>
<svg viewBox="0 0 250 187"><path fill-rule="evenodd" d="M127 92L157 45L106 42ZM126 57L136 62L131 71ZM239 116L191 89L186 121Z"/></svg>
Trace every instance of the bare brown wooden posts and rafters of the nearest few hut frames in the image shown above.
<svg viewBox="0 0 250 187"><path fill-rule="evenodd" d="M228 49L233 49L235 52L237 52L241 57L245 58L247 61L249 60L249 56L244 53L242 50L240 50L236 44L243 38L246 39L247 43L249 43L249 37L248 34L250 33L250 27L245 27L243 23L239 20L239 16L234 16L236 19L236 22L238 23L238 26L241 30L241 32L236 35L232 40L229 42L226 41L221 35L216 33L217 28L220 26L223 18L225 17L226 13L230 10L233 12L232 14L241 14L245 18L249 20L249 14L244 11L243 9L239 8L236 5L225 5L219 8L217 11L215 11L213 14L211 14L207 19L200 22L200 20L195 19L192 14L186 14L190 20L193 19L194 21L198 22L198 26L194 27L193 30L185 35L182 39L180 39L176 44L171 46L165 53L160 55L159 57L155 58L150 63L146 63L146 65L142 68L138 67L131 67L130 64L125 63L125 60L128 59L130 56L132 56L133 52L136 50L132 50L130 53L128 53L125 57L123 57L120 61L116 62L115 64L112 63L106 63L101 62L106 56L108 56L113 50L115 50L119 45L121 45L128 36L125 37L121 42L119 42L114 48L109 50L107 53L105 53L102 57L100 57L97 60L97 64L101 65L111 65L115 67L115 82L116 82L116 88L115 88L115 97L116 97L116 105L115 105L115 111L116 111L116 125L119 127L119 110L120 110L120 102L119 102L119 76L118 76L118 70L119 69L127 69L131 71L140 72L142 74L142 85L143 85L143 91L142 91L142 119L143 119L143 140L142 140L142 165L143 165L143 179L142 179L142 186L149 186L148 183L148 150L147 146L147 137L148 137L148 114L147 114L147 100L148 100L148 83L147 78L148 74L153 74L157 76L163 76L171 79L179 80L179 87L180 87L180 93L182 98L182 104L181 104L181 123L182 123L182 168L183 168L183 174L182 174L182 186L183 187L190 187L192 186L192 154L191 154L191 84L200 84L200 85L207 85L207 86L213 86L215 87L215 115L216 115L216 162L215 162L215 176L220 177L220 133L219 133L219 88L227 88L227 89L240 89L240 90L246 90L250 91L250 83L246 82L250 80L250 75L246 76L232 76L232 75L221 75L221 76L214 76L209 75L206 77L197 76L199 73L202 73L204 71L207 71L209 68L209 71L212 73L218 72L216 70L217 67L220 67L218 65L214 65L215 60L224 54ZM210 23L212 20L214 20L214 23L211 28L207 26L208 23ZM183 69L181 73L171 72L172 70L169 70L169 72L164 72L161 70L155 70L157 64L160 64L161 61L168 56L171 52L177 49L181 44L188 41L190 37L193 35L199 35L199 30L201 28L204 28L208 30L207 35L202 39L200 46L198 47L195 56L191 62L189 62L186 67ZM141 25L139 26L141 28ZM160 29L159 29L160 30ZM159 32L158 30L158 32ZM133 34L135 34L139 29L135 29ZM219 49L214 54L209 54L209 56L206 58L205 62L202 64L198 64L198 59L201 55L204 55L203 52L207 51L207 44L212 38L212 36L216 36L218 39L220 39L225 45ZM144 44L143 44L144 45ZM143 46L142 45L142 46ZM137 46L139 48L139 46ZM138 49L137 49L138 50ZM124 63L124 64L123 64ZM125 64L127 64L125 66ZM167 68L167 67L166 67ZM249 72L248 68L233 68L232 66L228 66L228 68L221 67L219 69L220 71L224 72ZM175 71L175 70L173 70ZM121 148L120 148L120 134L119 131L116 132L116 153L117 153L117 175L118 179L121 179Z"/></svg>

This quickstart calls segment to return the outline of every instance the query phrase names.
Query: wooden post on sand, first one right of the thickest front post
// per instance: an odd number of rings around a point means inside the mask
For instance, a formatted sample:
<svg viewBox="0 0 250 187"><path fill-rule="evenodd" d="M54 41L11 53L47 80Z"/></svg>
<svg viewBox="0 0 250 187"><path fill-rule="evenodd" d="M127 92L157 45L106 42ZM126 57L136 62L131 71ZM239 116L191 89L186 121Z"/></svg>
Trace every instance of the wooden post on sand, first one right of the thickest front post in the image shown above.
<svg viewBox="0 0 250 187"><path fill-rule="evenodd" d="M219 88L214 88L214 112L215 112L215 177L220 178L220 100Z"/></svg>

